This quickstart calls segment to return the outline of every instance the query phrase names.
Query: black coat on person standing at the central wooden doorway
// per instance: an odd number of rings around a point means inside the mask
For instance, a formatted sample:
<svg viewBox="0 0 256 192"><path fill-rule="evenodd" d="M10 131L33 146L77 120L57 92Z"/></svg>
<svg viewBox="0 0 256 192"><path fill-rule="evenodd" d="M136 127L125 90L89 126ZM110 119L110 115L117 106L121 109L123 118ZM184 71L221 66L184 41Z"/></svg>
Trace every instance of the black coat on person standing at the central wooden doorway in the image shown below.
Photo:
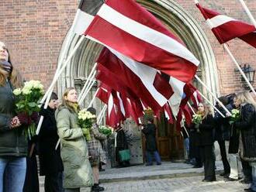
<svg viewBox="0 0 256 192"><path fill-rule="evenodd" d="M142 132L146 136L146 150L157 151L156 126L152 123L147 124Z"/></svg>

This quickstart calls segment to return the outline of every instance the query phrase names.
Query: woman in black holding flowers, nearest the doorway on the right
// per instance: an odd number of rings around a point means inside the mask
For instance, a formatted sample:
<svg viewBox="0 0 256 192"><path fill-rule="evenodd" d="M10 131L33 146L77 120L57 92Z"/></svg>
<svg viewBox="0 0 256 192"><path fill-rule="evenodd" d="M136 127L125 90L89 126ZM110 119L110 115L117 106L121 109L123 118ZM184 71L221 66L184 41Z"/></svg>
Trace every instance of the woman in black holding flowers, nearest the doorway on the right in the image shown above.
<svg viewBox="0 0 256 192"><path fill-rule="evenodd" d="M213 154L213 115L209 107L199 103L196 115L193 115L193 128L197 132L197 144L204 163L205 178L204 182L216 180L215 176L215 157Z"/></svg>

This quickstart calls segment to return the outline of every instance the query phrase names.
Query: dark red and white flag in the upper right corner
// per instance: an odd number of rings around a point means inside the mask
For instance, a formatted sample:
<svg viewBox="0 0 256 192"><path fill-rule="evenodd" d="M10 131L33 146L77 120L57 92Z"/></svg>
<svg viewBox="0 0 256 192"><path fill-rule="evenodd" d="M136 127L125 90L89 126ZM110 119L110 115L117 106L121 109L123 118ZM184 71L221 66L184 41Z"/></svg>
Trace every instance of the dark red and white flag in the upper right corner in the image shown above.
<svg viewBox="0 0 256 192"><path fill-rule="evenodd" d="M199 4L196 6L202 12L220 44L237 37L256 48L256 29L253 25L230 18L227 15L221 15L219 12L203 8Z"/></svg>

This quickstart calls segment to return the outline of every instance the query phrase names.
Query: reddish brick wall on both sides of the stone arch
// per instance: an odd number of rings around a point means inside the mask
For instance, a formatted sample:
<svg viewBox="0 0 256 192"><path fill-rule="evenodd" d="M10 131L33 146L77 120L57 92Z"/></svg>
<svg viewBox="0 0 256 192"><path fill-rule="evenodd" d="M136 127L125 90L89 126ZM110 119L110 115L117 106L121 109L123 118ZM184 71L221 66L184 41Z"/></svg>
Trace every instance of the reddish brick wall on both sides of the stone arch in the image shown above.
<svg viewBox="0 0 256 192"><path fill-rule="evenodd" d="M207 28L192 0L176 0L202 26L216 57L220 93L230 94L243 89L234 63ZM256 2L245 1L256 17ZM57 57L67 29L71 26L77 0L4 0L0 2L0 40L12 56L12 63L26 79L39 79L47 87L54 76ZM236 19L249 22L239 1L205 0L202 5ZM256 69L255 49L240 40L229 43L239 63L250 63ZM256 85L256 82L255 82Z"/></svg>

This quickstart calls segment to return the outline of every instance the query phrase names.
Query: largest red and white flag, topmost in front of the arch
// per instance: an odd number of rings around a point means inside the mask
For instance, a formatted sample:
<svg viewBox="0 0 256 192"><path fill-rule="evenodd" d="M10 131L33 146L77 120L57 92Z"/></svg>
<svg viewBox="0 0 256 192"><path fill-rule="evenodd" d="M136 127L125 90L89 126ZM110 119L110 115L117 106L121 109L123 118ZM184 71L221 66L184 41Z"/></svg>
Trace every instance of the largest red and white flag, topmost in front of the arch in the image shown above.
<svg viewBox="0 0 256 192"><path fill-rule="evenodd" d="M133 0L107 0L85 36L179 81L191 81L199 65L180 39Z"/></svg>

